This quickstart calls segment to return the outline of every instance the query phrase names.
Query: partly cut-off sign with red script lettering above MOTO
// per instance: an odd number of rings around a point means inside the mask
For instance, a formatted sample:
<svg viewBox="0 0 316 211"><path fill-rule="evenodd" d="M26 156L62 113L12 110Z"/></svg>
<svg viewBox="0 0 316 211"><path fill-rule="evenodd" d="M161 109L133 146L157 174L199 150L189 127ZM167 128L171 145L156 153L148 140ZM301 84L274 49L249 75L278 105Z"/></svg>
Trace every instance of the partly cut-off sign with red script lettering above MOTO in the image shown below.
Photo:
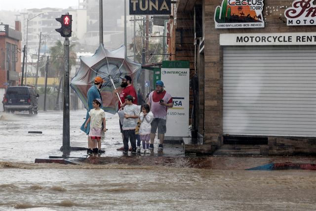
<svg viewBox="0 0 316 211"><path fill-rule="evenodd" d="M314 0L294 0L292 7L284 11L287 26L316 25L316 5Z"/></svg>

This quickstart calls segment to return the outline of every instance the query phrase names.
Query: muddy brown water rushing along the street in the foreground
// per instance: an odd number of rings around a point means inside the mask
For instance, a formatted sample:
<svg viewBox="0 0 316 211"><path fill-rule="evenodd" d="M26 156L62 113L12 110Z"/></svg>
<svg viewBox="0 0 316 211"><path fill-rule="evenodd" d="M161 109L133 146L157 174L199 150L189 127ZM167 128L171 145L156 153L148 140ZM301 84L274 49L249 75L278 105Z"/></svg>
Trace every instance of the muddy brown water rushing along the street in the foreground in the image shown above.
<svg viewBox="0 0 316 211"><path fill-rule="evenodd" d="M316 210L315 171L0 162L0 210Z"/></svg>

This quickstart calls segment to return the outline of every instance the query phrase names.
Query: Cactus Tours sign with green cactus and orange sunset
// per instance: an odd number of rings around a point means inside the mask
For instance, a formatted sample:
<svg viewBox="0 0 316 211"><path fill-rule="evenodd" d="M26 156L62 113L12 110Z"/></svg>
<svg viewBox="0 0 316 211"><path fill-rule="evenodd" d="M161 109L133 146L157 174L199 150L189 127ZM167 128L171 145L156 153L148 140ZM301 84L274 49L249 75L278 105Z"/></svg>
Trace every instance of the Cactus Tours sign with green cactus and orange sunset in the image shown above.
<svg viewBox="0 0 316 211"><path fill-rule="evenodd" d="M263 0L223 0L215 9L215 28L264 28L263 6Z"/></svg>

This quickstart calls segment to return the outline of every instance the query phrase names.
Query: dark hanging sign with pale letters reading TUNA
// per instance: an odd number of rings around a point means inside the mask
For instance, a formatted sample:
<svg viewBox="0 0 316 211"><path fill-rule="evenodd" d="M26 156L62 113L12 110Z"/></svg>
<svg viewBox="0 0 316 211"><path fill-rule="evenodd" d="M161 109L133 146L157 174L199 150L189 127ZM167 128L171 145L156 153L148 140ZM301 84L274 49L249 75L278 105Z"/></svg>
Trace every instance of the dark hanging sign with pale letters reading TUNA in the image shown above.
<svg viewBox="0 0 316 211"><path fill-rule="evenodd" d="M129 0L130 15L170 15L171 0Z"/></svg>

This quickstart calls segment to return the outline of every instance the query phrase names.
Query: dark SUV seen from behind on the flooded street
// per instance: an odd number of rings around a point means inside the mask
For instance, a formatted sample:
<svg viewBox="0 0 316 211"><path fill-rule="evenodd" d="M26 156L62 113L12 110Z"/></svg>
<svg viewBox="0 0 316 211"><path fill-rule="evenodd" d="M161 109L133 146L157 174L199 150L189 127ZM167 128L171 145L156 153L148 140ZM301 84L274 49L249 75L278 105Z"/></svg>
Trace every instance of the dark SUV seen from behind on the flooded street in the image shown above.
<svg viewBox="0 0 316 211"><path fill-rule="evenodd" d="M4 111L14 112L28 110L30 114L38 113L38 98L35 89L29 86L10 86L3 98Z"/></svg>

